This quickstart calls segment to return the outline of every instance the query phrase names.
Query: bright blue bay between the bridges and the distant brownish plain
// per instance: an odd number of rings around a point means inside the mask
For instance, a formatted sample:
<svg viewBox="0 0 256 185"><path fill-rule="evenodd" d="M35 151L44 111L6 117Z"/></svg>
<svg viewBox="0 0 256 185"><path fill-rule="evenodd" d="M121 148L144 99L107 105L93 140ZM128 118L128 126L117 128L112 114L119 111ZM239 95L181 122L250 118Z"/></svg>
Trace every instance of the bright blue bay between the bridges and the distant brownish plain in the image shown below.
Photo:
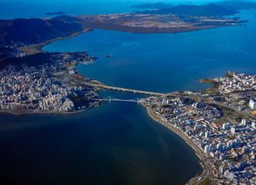
<svg viewBox="0 0 256 185"><path fill-rule="evenodd" d="M201 78L228 71L256 72L256 11L245 10L247 25L179 34L133 34L95 30L51 43L47 51L88 51L96 64L77 70L118 87L147 91L184 91L208 87ZM106 58L111 54L113 57Z"/></svg>

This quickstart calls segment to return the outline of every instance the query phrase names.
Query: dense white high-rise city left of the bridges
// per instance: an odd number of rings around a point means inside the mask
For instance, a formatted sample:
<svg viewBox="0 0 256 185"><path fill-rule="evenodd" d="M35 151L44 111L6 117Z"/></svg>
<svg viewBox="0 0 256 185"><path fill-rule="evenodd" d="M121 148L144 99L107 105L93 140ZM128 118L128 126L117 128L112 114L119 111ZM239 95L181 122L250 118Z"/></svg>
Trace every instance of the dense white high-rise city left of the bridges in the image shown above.
<svg viewBox="0 0 256 185"><path fill-rule="evenodd" d="M9 113L67 113L88 109L92 87L76 83L78 63L88 64L86 53L52 54L53 63L8 65L0 71L0 111Z"/></svg>

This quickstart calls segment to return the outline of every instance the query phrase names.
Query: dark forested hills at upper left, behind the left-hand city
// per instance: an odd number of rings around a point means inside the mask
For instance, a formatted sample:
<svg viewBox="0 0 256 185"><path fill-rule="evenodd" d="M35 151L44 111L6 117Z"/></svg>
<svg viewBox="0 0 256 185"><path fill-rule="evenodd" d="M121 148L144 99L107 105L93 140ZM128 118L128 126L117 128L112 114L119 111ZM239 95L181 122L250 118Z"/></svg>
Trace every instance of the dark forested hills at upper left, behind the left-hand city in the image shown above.
<svg viewBox="0 0 256 185"><path fill-rule="evenodd" d="M82 30L78 19L68 16L49 20L37 18L0 20L0 45L23 46L43 43Z"/></svg>

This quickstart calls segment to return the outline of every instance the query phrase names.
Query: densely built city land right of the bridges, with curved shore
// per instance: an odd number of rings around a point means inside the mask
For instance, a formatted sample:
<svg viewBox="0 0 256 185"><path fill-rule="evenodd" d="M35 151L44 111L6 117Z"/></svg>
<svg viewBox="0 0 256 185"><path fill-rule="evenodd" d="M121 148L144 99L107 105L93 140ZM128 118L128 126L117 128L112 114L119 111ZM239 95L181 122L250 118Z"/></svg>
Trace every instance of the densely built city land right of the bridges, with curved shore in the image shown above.
<svg viewBox="0 0 256 185"><path fill-rule="evenodd" d="M151 97L143 104L153 118L195 145L207 175L194 183L209 176L213 184L255 184L256 76L229 72L214 81L209 91Z"/></svg>

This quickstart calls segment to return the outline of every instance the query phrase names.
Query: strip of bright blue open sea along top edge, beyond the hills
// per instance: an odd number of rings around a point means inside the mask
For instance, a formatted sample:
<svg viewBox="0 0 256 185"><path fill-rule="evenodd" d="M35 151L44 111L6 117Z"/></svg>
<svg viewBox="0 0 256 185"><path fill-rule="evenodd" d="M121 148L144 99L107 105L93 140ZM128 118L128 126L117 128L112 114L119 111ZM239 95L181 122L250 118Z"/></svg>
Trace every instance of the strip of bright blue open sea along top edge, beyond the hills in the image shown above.
<svg viewBox="0 0 256 185"><path fill-rule="evenodd" d="M132 12L130 6L148 2L202 4L221 0L0 0L0 19L45 17L46 13L69 14ZM256 0L252 0L256 2Z"/></svg>

